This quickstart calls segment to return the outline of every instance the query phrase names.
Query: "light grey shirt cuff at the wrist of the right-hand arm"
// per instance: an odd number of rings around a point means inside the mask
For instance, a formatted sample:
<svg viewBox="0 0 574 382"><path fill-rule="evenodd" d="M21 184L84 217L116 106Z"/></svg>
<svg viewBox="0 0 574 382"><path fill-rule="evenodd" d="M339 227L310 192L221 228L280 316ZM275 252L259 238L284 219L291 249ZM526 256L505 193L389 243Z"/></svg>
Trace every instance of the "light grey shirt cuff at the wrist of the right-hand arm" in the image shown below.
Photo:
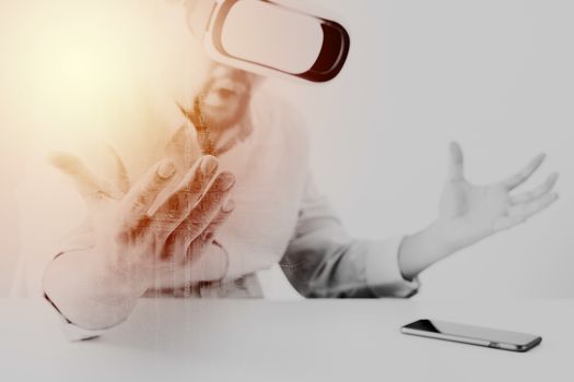
<svg viewBox="0 0 574 382"><path fill-rule="evenodd" d="M419 279L405 279L399 266L399 250L405 237L366 242L366 283L377 297L408 298L417 294Z"/></svg>

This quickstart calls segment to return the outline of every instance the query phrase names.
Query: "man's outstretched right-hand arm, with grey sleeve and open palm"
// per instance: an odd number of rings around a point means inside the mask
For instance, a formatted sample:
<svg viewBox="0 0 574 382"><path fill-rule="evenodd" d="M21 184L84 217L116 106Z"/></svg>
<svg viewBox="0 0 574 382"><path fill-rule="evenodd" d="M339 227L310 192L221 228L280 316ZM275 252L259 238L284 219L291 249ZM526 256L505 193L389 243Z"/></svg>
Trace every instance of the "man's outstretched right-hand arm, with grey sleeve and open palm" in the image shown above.
<svg viewBox="0 0 574 382"><path fill-rule="evenodd" d="M412 296L415 277L429 266L526 222L558 200L552 192L558 174L530 191L514 192L544 157L538 155L503 181L477 186L466 179L462 151L452 143L437 219L414 235L388 241L351 239L309 183L296 235L281 262L283 270L307 297Z"/></svg>

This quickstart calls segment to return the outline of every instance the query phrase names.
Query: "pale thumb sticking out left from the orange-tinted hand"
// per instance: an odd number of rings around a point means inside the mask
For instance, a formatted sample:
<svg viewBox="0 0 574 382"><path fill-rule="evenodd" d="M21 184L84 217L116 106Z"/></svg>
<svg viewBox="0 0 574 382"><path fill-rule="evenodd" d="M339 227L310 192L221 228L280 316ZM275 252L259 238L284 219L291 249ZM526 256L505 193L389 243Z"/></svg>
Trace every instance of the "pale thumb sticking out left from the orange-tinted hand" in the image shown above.
<svg viewBox="0 0 574 382"><path fill-rule="evenodd" d="M121 199L119 190L99 180L77 156L67 153L55 153L49 158L51 165L69 176L82 198L97 201L103 198Z"/></svg>

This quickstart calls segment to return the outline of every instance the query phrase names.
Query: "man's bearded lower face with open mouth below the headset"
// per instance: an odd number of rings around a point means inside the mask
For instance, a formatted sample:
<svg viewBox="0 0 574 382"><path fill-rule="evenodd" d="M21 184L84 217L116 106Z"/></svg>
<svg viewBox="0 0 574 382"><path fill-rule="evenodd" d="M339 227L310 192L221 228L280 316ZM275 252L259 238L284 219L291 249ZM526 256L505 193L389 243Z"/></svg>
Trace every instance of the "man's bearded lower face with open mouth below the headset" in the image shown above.
<svg viewBox="0 0 574 382"><path fill-rule="evenodd" d="M225 129L237 123L247 112L257 82L254 74L211 62L199 94L208 126Z"/></svg>

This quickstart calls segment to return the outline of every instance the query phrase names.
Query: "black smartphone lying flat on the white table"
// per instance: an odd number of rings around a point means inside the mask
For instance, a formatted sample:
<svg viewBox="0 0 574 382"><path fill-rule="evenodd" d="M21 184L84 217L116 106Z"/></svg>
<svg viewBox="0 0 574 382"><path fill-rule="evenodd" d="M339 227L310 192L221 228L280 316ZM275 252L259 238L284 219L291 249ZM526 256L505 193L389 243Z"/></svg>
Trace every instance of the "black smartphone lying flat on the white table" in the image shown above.
<svg viewBox="0 0 574 382"><path fill-rule="evenodd" d="M456 324L436 320L419 320L400 329L405 334L446 339L512 351L527 351L542 342L534 334Z"/></svg>

